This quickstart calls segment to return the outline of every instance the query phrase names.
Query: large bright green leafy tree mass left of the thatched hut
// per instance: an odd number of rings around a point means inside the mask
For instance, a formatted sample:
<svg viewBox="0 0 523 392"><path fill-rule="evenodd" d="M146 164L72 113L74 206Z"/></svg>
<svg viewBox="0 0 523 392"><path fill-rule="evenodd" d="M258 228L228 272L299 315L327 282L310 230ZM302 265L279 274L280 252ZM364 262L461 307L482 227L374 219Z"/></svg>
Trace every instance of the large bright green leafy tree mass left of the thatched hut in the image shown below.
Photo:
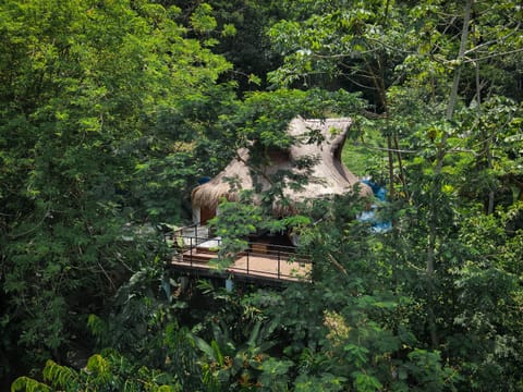
<svg viewBox="0 0 523 392"><path fill-rule="evenodd" d="M218 85L230 64L178 14L145 1L2 2L2 344L32 366L60 359L87 315L161 253L158 233L138 228L182 219L203 168L194 140L218 118L205 108L231 103Z"/></svg>

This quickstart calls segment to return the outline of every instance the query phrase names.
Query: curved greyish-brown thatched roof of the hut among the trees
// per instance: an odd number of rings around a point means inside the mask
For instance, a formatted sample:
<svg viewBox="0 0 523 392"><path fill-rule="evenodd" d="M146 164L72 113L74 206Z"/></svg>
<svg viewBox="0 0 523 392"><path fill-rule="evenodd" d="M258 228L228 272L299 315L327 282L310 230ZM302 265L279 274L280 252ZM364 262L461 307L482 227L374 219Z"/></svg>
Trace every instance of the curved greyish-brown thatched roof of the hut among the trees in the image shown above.
<svg viewBox="0 0 523 392"><path fill-rule="evenodd" d="M253 189L254 184L266 191L270 177L281 170L294 174L306 175L308 182L299 189L292 189L289 179L285 179L285 198L293 203L305 199L346 194L354 184L358 183L362 195L372 195L370 188L358 182L358 179L341 162L341 150L345 142L346 132L351 126L351 119L304 120L295 118L288 127L288 133L299 140L287 151L277 151L270 155L270 164L262 168L250 168L250 151L246 148L238 150L236 157L227 168L209 182L199 185L192 193L193 207L216 208L222 197L228 200L239 199L239 189ZM306 144L311 130L317 130L323 136L320 143ZM296 162L303 158L313 157L314 163L308 169L296 168ZM253 177L255 177L253 180ZM234 179L238 188L231 188L228 179ZM291 185L291 186L289 186ZM273 206L278 215L290 213L289 208Z"/></svg>

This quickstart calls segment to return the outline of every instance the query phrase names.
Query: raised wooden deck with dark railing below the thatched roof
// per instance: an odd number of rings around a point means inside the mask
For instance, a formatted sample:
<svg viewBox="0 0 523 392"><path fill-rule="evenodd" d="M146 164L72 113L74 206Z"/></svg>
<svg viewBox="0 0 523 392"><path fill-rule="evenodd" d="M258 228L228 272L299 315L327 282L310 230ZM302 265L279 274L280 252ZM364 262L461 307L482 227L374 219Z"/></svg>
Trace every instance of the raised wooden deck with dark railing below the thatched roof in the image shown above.
<svg viewBox="0 0 523 392"><path fill-rule="evenodd" d="M258 281L311 281L312 262L308 258L296 255L290 247L268 243L251 243L232 265L219 270L212 261L217 261L221 240L205 238L200 232L198 235L198 241L184 236L183 248L179 248L172 258L173 268L202 275L232 274L239 279Z"/></svg>

